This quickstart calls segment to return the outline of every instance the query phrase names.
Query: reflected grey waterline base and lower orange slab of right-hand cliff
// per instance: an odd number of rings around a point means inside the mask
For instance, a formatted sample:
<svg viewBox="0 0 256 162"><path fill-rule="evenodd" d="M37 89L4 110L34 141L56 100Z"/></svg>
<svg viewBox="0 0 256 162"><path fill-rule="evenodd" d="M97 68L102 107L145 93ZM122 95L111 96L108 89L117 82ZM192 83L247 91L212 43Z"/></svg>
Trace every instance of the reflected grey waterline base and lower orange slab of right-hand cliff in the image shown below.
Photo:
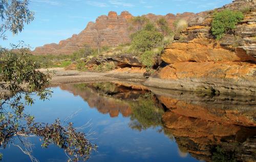
<svg viewBox="0 0 256 162"><path fill-rule="evenodd" d="M226 124L256 126L255 98L151 90L166 109L177 115Z"/></svg>

